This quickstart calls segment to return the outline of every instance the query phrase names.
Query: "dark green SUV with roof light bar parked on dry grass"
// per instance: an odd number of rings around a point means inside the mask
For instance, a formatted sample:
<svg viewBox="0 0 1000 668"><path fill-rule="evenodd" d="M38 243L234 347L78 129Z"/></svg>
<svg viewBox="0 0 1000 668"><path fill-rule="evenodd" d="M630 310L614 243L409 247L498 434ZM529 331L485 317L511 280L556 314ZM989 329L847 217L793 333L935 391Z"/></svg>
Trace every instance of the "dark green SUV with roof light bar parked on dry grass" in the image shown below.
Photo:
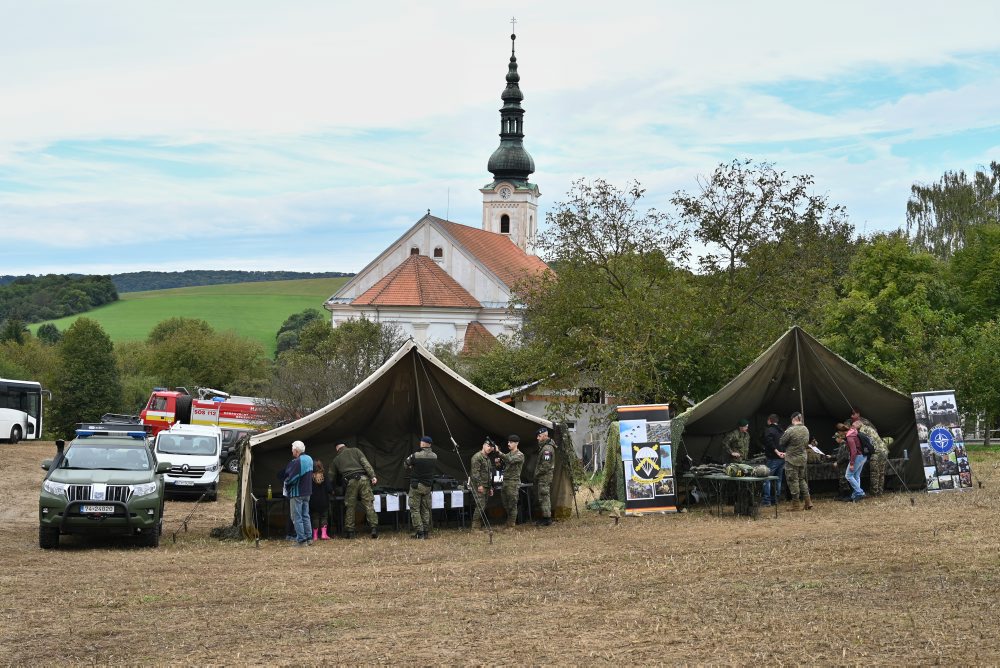
<svg viewBox="0 0 1000 668"><path fill-rule="evenodd" d="M59 547L60 534L135 536L148 547L160 544L163 528L163 473L144 431L78 429L48 471L38 499L38 545ZM135 425L131 425L135 429ZM141 427L140 427L141 428Z"/></svg>

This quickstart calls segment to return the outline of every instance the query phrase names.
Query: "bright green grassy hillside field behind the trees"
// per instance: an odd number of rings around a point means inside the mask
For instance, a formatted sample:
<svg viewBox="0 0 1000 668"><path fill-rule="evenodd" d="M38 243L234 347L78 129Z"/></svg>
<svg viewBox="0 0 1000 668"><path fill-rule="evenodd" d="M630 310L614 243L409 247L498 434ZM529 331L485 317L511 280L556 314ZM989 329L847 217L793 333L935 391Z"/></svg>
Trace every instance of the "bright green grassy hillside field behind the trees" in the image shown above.
<svg viewBox="0 0 1000 668"><path fill-rule="evenodd" d="M114 304L51 322L65 331L86 316L99 322L117 342L145 339L157 323L168 318L199 318L218 332L233 330L260 341L273 354L274 335L285 318L307 308L322 311L323 302L348 280L310 278L127 292ZM37 331L39 325L32 325L31 330Z"/></svg>

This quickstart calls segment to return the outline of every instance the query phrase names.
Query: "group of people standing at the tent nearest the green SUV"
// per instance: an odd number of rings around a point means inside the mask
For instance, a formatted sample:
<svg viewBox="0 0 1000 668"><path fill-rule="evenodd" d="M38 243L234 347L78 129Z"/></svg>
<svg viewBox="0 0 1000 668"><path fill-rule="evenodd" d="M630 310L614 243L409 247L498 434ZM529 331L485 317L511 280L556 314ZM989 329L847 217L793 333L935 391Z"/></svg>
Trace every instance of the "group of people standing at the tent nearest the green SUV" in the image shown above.
<svg viewBox="0 0 1000 668"><path fill-rule="evenodd" d="M538 440L538 460L535 464L535 487L541 519L538 524L552 524L552 477L555 471L556 448L549 438L548 429L541 427L535 434ZM524 453L520 451L521 438L517 434L507 437L507 452L500 449L489 437L482 448L472 456L469 470L469 490L473 499L472 529L481 529L486 519L486 504L493 496L494 467L503 471L500 489L503 507L507 513L507 527L517 524L518 495L521 487L521 469ZM420 449L409 455L403 465L410 472L410 523L413 538L426 539L431 530L431 492L434 479L439 475L438 457L433 450L434 439L423 436ZM295 544L308 547L317 540L329 540L329 508L334 494L333 481L339 475L345 481L344 536L356 536L358 503L365 513L371 537L378 538L378 513L375 512L375 495L372 487L378 484L375 469L358 448L344 443L336 446L336 456L329 471L323 463L305 453L302 441L292 443L292 459L278 477L283 482L283 492L288 497L291 530ZM488 521L487 521L488 524ZM291 538L291 535L289 536Z"/></svg>

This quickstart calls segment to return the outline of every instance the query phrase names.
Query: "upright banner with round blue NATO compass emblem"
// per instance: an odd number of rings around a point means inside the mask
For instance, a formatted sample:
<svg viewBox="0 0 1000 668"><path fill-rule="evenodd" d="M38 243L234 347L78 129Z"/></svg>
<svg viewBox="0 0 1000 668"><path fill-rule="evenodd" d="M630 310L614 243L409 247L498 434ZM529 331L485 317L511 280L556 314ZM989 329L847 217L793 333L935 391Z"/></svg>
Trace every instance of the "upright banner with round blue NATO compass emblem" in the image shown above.
<svg viewBox="0 0 1000 668"><path fill-rule="evenodd" d="M954 390L914 392L913 414L928 492L972 488Z"/></svg>

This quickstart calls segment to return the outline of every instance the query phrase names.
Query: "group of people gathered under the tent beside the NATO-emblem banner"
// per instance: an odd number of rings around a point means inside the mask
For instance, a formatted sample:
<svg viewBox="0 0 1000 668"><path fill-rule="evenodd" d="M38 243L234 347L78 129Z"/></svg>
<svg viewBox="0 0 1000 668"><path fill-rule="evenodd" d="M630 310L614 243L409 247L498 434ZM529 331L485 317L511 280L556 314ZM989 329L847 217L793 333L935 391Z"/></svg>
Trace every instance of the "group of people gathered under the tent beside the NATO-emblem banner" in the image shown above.
<svg viewBox="0 0 1000 668"><path fill-rule="evenodd" d="M739 462L747 459L750 450L749 432L750 422L744 419L739 421L736 429L724 437L723 447L731 461ZM836 459L840 469L837 477L841 498L856 502L866 496L861 488L861 472L866 463L869 466L871 479L869 492L875 496L881 495L885 486L889 449L871 421L862 417L857 409L852 410L849 419L837 423L834 440L839 446ZM868 448L862 446L863 440L870 444L870 456L864 453ZM810 451L827 456L819 450L816 440L810 438L802 413L792 414L791 425L787 429L781 427L777 415L772 413L767 417L767 427L764 430L764 460L768 475L777 477L778 480L774 484L770 480L764 483L761 505L771 506L778 503L784 476L791 497L789 509L798 511L813 507L806 470Z"/></svg>

